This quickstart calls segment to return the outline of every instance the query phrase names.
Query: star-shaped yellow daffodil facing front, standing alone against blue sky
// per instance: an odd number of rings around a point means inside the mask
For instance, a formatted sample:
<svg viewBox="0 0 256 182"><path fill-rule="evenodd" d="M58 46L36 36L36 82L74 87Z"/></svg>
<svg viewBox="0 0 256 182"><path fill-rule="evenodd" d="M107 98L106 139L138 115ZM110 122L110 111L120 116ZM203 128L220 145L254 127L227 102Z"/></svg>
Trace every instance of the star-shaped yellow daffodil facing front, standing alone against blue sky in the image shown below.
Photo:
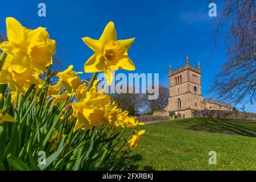
<svg viewBox="0 0 256 182"><path fill-rule="evenodd" d="M82 38L84 43L95 53L86 61L84 70L86 73L101 72L106 74L108 85L113 80L113 71L119 68L133 71L135 66L128 57L133 39L117 40L117 32L114 23L109 22L99 40L88 37Z"/></svg>

